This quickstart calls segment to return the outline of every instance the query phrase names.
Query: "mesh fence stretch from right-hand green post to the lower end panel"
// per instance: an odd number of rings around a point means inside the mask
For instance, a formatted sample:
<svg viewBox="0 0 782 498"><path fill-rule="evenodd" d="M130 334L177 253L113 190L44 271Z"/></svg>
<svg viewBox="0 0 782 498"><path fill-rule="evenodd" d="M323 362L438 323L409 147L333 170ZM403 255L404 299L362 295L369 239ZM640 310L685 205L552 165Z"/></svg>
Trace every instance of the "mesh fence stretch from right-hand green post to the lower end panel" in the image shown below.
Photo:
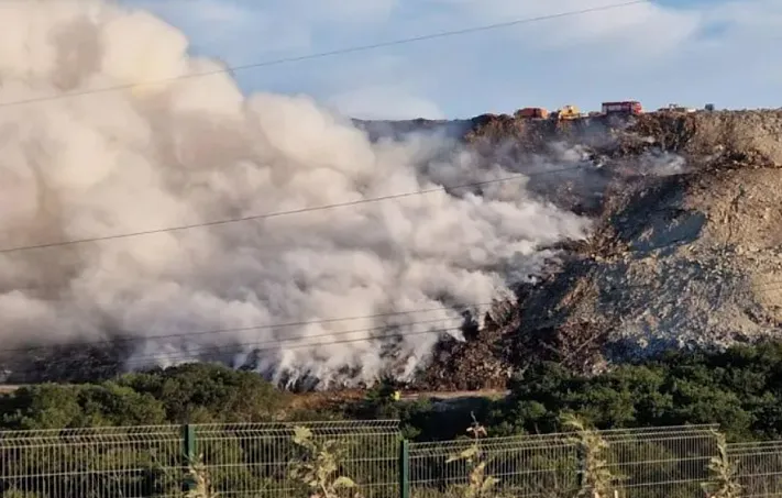
<svg viewBox="0 0 782 498"><path fill-rule="evenodd" d="M714 427L676 427L597 432L607 444L595 453L615 477L617 498L701 496L708 462L716 454ZM573 497L587 485L590 451L575 433L410 445L414 498L463 496L485 486L483 496ZM481 455L469 462L470 449ZM461 455L461 457L460 457ZM475 465L484 463L476 473ZM483 475L481 474L484 473ZM496 478L486 484L486 476Z"/></svg>

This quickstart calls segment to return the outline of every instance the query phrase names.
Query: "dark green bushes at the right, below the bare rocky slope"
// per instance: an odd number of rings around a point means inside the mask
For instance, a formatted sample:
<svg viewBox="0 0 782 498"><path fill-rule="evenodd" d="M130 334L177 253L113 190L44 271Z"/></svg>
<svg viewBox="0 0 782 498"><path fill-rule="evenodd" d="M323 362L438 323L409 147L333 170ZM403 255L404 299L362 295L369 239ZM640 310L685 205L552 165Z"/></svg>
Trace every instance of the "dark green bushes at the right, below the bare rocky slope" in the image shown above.
<svg viewBox="0 0 782 498"><path fill-rule="evenodd" d="M782 344L669 353L594 377L541 363L494 408L494 433L554 432L559 414L599 429L718 423L733 441L782 436Z"/></svg>

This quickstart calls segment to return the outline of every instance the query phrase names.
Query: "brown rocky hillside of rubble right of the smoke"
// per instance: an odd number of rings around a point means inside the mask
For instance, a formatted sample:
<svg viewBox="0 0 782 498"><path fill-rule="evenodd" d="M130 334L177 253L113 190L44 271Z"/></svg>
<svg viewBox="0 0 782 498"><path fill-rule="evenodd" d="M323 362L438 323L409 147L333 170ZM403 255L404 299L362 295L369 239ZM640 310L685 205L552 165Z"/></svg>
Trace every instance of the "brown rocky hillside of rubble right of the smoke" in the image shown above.
<svg viewBox="0 0 782 498"><path fill-rule="evenodd" d="M782 111L564 125L481 117L464 137L528 170L576 151L577 173L530 185L595 226L546 281L519 289L502 323L443 344L421 385L489 387L532 357L595 372L669 347L780 334Z"/></svg>

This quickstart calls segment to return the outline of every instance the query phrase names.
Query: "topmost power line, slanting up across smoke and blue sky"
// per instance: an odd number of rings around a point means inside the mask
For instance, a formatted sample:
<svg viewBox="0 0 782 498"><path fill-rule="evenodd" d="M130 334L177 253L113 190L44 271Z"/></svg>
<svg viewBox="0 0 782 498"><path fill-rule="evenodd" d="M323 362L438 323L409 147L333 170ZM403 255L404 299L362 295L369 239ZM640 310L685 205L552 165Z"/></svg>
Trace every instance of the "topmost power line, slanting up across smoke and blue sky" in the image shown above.
<svg viewBox="0 0 782 498"><path fill-rule="evenodd" d="M82 97L82 96L88 96L88 95L92 95L92 93L104 93L104 92L109 92L109 91L131 90L131 89L134 89L137 87L159 85L159 84L173 82L173 81L178 81L178 80L184 80L184 79L202 78L206 76L231 74L231 73L238 73L238 71L243 71L243 70L247 70L247 69L256 69L260 67L276 66L276 65L280 65L280 64L296 63L296 62L317 59L317 58L323 58L323 57L331 57L331 56L335 56L335 55L344 55L344 54L351 54L351 53L356 53L356 52L367 52L367 51L373 51L373 49L377 49L377 48L385 48L385 47L390 47L390 46L396 46L396 45L405 45L405 44L409 44L409 43L417 43L417 42L423 42L423 41L436 40L436 38L444 38L444 37L450 37L450 36L461 36L461 35L471 34L471 33L498 30L498 29L503 29L503 27L510 27L510 26L520 25L520 24L529 24L529 23L535 23L535 22L540 22L540 21L548 21L548 20L552 20L552 19L569 18L569 16L583 15L583 14L587 14L587 13L592 13L592 12L601 12L601 11L607 11L607 10L614 10L614 9L621 9L625 7L630 7L630 5L640 4L640 3L649 3L649 0L634 0L634 1L628 1L628 2L623 2L623 3L614 3L614 4L609 4L609 5L603 5L603 7L593 7L593 8L588 8L588 9L571 10L571 11L559 12L559 13L554 13L554 14L539 15L539 16L535 16L535 18L516 19L513 21L499 22L499 23L494 23L494 24L485 24L485 25L474 26L474 27L465 27L462 30L442 31L439 33L431 33L431 34L426 34L426 35L412 36L412 37L408 37L408 38L398 38L398 40L393 40L389 42L373 43L370 45L357 45L357 46L352 46L352 47L338 48L338 49L333 49L333 51L316 52L312 54L300 55L300 56L284 57L284 58L277 58L277 59L265 60L265 62L260 62L260 63L223 67L220 69L212 69L212 70L200 71L200 73L191 73L188 75L180 75L180 76L175 76L175 77L170 77L170 78L162 78L162 79L157 79L157 80L142 81L139 84L118 85L118 86L112 86L112 87L96 88L96 89L91 89L91 90L58 93L56 96L35 97L35 98L31 98L31 99L15 100L15 101L10 101L10 102L0 102L0 108L1 107L11 107L11 106L21 106L21 104L26 104L26 103L46 102L46 101L58 100L58 99L64 99L64 98L68 98L68 97Z"/></svg>

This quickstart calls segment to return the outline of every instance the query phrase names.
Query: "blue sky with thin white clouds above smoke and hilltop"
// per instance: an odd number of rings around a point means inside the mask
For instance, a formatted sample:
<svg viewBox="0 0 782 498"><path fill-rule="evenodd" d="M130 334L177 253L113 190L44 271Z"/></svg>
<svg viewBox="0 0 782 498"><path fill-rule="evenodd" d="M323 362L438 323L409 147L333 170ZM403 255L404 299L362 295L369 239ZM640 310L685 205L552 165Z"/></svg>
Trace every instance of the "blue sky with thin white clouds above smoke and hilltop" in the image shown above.
<svg viewBox="0 0 782 498"><path fill-rule="evenodd" d="M621 0L122 0L243 65ZM307 93L362 118L466 118L640 100L782 106L782 0L665 0L261 67L246 91Z"/></svg>

